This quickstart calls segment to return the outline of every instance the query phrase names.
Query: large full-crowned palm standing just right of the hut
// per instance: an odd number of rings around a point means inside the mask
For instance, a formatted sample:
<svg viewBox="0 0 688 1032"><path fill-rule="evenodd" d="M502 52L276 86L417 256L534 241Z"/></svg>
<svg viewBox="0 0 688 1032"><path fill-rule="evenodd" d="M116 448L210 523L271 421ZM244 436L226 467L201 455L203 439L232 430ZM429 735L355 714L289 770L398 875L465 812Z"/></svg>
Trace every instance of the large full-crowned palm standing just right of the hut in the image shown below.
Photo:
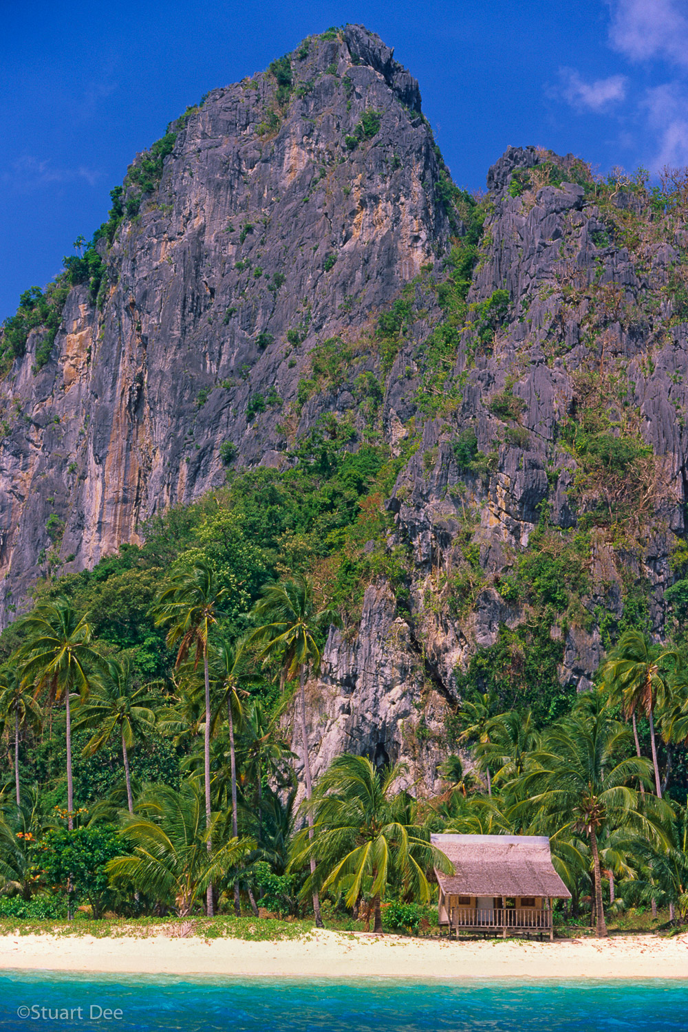
<svg viewBox="0 0 688 1032"><path fill-rule="evenodd" d="M607 829L634 831L647 838L666 841L657 814L647 796L641 808L640 794L629 787L631 778L649 782L651 767L643 757L619 760L628 744L627 725L614 720L605 700L593 695L581 700L574 711L554 724L542 747L530 756L520 778L524 801L515 810L530 809L533 821L554 836L571 833L587 837L592 857L596 932L605 936L602 904L599 839Z"/></svg>

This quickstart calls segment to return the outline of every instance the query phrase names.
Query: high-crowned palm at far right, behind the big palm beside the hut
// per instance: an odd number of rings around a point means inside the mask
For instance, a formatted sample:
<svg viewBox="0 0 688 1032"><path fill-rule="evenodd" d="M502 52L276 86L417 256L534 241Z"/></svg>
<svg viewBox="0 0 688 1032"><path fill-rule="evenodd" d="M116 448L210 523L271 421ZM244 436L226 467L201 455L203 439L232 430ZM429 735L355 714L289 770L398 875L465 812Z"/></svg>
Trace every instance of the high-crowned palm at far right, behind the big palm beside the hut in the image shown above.
<svg viewBox="0 0 688 1032"><path fill-rule="evenodd" d="M655 772L657 797L662 798L657 744L655 741L654 709L659 702L665 702L668 695L667 681L661 667L668 658L677 658L673 649L662 649L653 645L641 631L626 631L602 667L602 679L613 698L620 699L624 712L633 720L635 751L641 755L635 725L635 710L640 706L650 724L652 765Z"/></svg>

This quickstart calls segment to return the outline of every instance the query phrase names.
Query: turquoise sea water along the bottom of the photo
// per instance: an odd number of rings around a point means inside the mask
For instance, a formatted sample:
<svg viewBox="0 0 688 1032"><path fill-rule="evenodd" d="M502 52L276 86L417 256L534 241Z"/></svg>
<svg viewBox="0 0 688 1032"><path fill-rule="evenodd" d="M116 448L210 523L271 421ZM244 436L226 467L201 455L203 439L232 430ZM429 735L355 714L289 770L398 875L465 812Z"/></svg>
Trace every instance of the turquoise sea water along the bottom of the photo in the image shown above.
<svg viewBox="0 0 688 1032"><path fill-rule="evenodd" d="M0 973L2 1032L96 1026L120 1032L685 1032L688 980L520 985Z"/></svg>

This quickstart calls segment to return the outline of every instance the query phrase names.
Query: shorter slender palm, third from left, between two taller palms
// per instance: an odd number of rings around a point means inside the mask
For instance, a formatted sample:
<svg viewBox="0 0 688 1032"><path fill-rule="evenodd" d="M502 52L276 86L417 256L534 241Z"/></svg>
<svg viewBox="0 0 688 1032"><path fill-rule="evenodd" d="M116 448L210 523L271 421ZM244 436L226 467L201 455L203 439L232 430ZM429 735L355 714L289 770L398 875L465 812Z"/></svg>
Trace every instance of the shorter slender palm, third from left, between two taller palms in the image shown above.
<svg viewBox="0 0 688 1032"><path fill-rule="evenodd" d="M155 702L145 685L136 687L134 674L127 659L123 663L109 659L102 676L94 680L89 700L76 710L74 731L79 728L96 729L95 735L84 747L85 756L95 755L107 745L113 735L119 736L130 813L134 812L134 800L128 750L136 738L141 738L151 731L155 721L155 711L152 708Z"/></svg>

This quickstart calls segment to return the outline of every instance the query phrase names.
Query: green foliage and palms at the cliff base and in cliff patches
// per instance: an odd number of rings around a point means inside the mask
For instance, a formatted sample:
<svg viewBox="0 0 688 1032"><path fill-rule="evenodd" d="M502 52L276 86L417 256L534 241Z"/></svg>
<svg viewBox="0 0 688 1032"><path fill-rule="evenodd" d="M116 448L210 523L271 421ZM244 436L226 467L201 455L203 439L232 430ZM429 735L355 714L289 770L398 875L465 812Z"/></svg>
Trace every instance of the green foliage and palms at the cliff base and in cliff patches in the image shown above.
<svg viewBox="0 0 688 1032"><path fill-rule="evenodd" d="M260 136L279 129L306 89L295 89L295 69L310 45L270 65ZM336 65L326 74L337 76ZM352 89L351 80L341 88ZM36 369L47 361L72 286L88 285L102 308L118 230L138 218L197 109L130 166L111 192L107 221L91 241L75 241L55 283L22 295L3 327L0 372L25 354L32 332ZM347 158L378 146L382 117L362 112L343 139ZM457 414L468 373L497 353L515 301L501 288L481 300L471 295L488 258L493 203L459 190L438 151L435 157L434 202L451 246L374 314L360 340L342 334L313 347L289 414L347 386L356 416L321 417L296 440L280 426L290 448L282 470L234 470L236 446L224 442L224 487L141 527L143 544L122 546L91 571L39 582L32 613L0 636L0 914L28 920L83 907L97 916L107 907L186 917L202 907L238 913L261 904L293 916L313 903L318 920L338 908L367 913L380 928L387 907L388 922L418 929L427 921L432 866L441 865L429 834L447 829L550 835L574 896L568 916L589 914L599 934L610 906L654 901L685 920L688 550L679 545L673 556L676 579L665 599L674 625L662 647L648 634L649 586L633 573L655 513L658 463L626 366L604 357L610 327L644 326L648 313L631 310L613 284L590 290L574 272L543 288L562 304L561 326L553 319L545 342L548 362L566 353L566 313L586 309L587 357L572 373L567 417L548 453L550 489L562 463L566 475L572 471L571 518L554 525L548 495L527 545L494 573L479 535L487 489L500 458L512 448L525 452L532 432L523 425L527 405L516 375L484 399L490 426L498 424L485 450L479 421L465 425ZM655 189L643 176L596 181L582 163L563 167L547 154L512 175L509 194L527 207L538 189L564 180L594 196L605 226L591 237L600 252L615 240L642 258L685 219L685 182ZM634 203L615 203L620 190ZM240 243L254 229L244 222ZM327 255L324 270L336 261ZM283 281L275 273L269 289ZM665 313L666 328L685 321L681 262L660 293L661 304L654 295L650 301ZM532 298L517 300L527 323ZM430 308L436 318L428 323ZM227 309L225 321L235 312ZM306 332L302 321L287 341L298 347ZM417 415L392 448L383 443L383 402L412 342L403 377L415 379ZM258 334L261 350L273 344L270 333ZM199 409L207 396L207 388L199 391ZM258 423L281 405L273 388L254 392L247 419ZM423 417L443 423L458 474L448 491L460 517L451 561L419 587L412 546L392 536L384 503L420 447L415 420ZM437 451L424 450L421 476L431 475ZM399 503L404 490L396 492ZM54 542L63 528L52 514ZM625 559L600 584L593 555L603 548ZM382 580L424 660L423 621L433 614L463 631L479 599L496 591L509 622L455 671L458 702L435 743L446 782L438 798L399 792L401 768L381 771L358 756L338 757L312 785L303 721L306 801L296 812L295 757L281 715L294 697L300 705L328 628L341 623L354 635L366 585ZM621 600L616 609L605 606L612 590ZM565 642L571 626L593 624L610 658L597 687L579 698L572 681L562 683ZM418 700L419 713L424 703ZM419 737L431 734L423 720L421 713Z"/></svg>

